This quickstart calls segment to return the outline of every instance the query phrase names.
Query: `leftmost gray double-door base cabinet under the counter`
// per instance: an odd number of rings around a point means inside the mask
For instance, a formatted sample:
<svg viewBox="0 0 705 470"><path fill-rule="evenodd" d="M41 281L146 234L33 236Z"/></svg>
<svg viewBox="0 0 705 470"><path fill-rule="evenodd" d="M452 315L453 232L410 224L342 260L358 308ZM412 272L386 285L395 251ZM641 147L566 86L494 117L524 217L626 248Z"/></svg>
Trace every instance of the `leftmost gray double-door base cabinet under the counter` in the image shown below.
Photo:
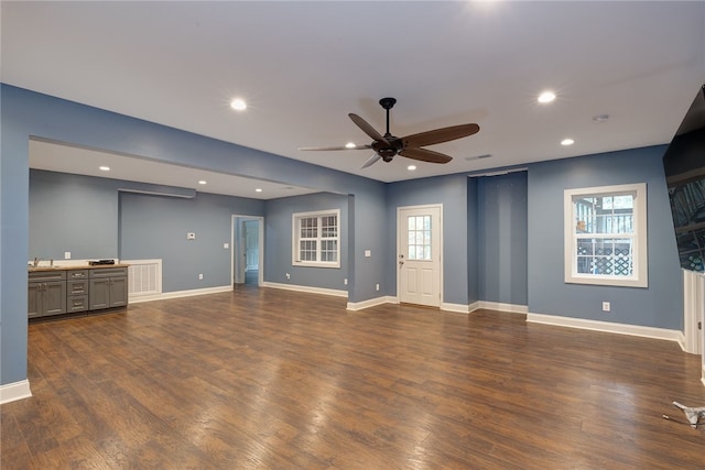
<svg viewBox="0 0 705 470"><path fill-rule="evenodd" d="M28 307L30 318L66 313L66 272L30 273Z"/></svg>

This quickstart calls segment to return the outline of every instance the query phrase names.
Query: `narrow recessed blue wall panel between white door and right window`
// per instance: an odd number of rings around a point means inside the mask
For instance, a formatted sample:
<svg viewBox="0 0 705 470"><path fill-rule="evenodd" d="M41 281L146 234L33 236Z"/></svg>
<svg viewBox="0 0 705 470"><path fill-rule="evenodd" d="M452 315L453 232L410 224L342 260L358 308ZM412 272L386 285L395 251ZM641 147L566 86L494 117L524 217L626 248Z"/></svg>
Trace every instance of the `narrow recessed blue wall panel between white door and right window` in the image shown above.
<svg viewBox="0 0 705 470"><path fill-rule="evenodd" d="M478 298L528 305L527 173L477 179Z"/></svg>

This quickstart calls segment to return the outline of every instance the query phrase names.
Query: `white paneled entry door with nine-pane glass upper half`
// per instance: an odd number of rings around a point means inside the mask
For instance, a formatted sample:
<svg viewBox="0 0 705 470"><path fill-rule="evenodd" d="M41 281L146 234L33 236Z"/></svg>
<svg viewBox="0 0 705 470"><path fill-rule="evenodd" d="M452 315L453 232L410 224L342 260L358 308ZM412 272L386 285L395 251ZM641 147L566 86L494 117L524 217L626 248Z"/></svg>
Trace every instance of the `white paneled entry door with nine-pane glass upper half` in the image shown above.
<svg viewBox="0 0 705 470"><path fill-rule="evenodd" d="M441 306L442 206L397 209L399 302Z"/></svg>

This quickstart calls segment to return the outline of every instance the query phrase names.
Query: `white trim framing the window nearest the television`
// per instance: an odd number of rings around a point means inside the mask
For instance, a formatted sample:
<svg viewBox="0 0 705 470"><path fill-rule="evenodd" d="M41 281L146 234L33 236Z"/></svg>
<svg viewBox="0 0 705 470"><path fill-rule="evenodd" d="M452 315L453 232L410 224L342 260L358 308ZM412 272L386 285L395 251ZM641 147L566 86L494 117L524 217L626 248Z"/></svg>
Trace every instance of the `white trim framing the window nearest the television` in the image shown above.
<svg viewBox="0 0 705 470"><path fill-rule="evenodd" d="M576 265L575 223L573 199L575 196L595 196L609 193L633 193L634 196L634 249L632 258L633 275L616 276L599 274L578 274ZM647 241L647 184L637 183L617 186L597 186L578 189L565 189L563 203L564 220L564 265L565 282L571 284L615 285L623 287L649 287L649 260Z"/></svg>

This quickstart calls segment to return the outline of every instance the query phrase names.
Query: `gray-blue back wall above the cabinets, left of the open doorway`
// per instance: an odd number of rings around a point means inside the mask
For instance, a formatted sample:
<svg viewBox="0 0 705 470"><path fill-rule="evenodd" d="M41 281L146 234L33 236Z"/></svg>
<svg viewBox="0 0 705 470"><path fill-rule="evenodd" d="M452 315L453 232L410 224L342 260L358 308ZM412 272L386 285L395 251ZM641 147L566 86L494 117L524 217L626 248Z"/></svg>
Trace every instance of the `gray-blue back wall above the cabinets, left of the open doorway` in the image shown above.
<svg viewBox="0 0 705 470"><path fill-rule="evenodd" d="M230 284L231 215L262 216L257 199L119 193L153 185L30 171L30 259L162 259L163 292ZM186 240L195 232L196 240ZM198 280L198 274L204 278Z"/></svg>

